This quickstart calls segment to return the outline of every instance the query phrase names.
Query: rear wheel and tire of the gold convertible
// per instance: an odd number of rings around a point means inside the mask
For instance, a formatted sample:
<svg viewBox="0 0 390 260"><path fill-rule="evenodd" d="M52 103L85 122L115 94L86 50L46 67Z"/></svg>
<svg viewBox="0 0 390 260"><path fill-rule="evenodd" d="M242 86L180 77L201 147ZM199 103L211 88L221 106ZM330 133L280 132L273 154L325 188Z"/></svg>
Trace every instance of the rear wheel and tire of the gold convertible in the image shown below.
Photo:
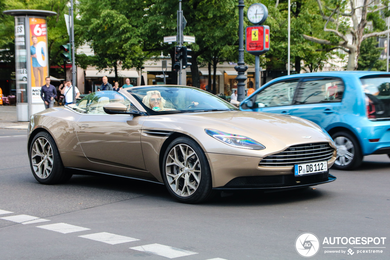
<svg viewBox="0 0 390 260"><path fill-rule="evenodd" d="M35 135L28 155L32 174L39 183L63 183L72 177L65 171L57 145L47 132L42 131Z"/></svg>

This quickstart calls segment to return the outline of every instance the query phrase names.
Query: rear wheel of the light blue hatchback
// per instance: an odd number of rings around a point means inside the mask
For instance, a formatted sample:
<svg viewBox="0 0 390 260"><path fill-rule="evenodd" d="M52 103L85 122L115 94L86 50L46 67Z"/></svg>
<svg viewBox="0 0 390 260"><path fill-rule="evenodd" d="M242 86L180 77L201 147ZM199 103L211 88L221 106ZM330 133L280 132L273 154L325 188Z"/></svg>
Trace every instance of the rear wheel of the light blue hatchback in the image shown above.
<svg viewBox="0 0 390 260"><path fill-rule="evenodd" d="M337 146L337 157L333 167L337 170L350 171L362 164L363 155L355 136L341 131L332 135Z"/></svg>

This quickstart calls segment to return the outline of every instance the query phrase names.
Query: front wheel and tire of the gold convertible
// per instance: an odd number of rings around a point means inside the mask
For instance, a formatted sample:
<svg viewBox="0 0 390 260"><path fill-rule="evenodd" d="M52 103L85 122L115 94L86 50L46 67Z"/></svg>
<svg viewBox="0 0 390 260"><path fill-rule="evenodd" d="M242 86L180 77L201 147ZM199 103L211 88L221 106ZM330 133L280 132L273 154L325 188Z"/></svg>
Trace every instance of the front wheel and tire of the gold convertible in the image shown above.
<svg viewBox="0 0 390 260"><path fill-rule="evenodd" d="M192 139L179 137L172 141L165 151L162 168L169 193L180 202L199 203L214 195L206 155Z"/></svg>

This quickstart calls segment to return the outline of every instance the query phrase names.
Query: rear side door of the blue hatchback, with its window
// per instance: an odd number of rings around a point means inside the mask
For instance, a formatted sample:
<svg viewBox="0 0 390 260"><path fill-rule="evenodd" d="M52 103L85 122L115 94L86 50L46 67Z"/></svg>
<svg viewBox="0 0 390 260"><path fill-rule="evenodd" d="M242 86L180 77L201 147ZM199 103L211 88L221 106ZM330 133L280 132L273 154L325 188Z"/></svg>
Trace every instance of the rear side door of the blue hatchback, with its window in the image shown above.
<svg viewBox="0 0 390 260"><path fill-rule="evenodd" d="M313 121L326 129L338 116L343 93L344 84L340 78L303 78L290 114Z"/></svg>

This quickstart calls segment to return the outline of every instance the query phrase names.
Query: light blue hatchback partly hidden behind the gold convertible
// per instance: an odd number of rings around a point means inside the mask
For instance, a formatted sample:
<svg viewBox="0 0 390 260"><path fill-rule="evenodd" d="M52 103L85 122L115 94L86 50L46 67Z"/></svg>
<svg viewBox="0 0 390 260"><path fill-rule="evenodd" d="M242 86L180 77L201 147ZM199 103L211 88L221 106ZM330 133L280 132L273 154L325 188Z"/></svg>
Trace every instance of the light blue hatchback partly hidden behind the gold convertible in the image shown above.
<svg viewBox="0 0 390 260"><path fill-rule="evenodd" d="M337 145L333 167L351 170L363 156L390 157L390 73L330 71L276 78L240 106L317 123Z"/></svg>

